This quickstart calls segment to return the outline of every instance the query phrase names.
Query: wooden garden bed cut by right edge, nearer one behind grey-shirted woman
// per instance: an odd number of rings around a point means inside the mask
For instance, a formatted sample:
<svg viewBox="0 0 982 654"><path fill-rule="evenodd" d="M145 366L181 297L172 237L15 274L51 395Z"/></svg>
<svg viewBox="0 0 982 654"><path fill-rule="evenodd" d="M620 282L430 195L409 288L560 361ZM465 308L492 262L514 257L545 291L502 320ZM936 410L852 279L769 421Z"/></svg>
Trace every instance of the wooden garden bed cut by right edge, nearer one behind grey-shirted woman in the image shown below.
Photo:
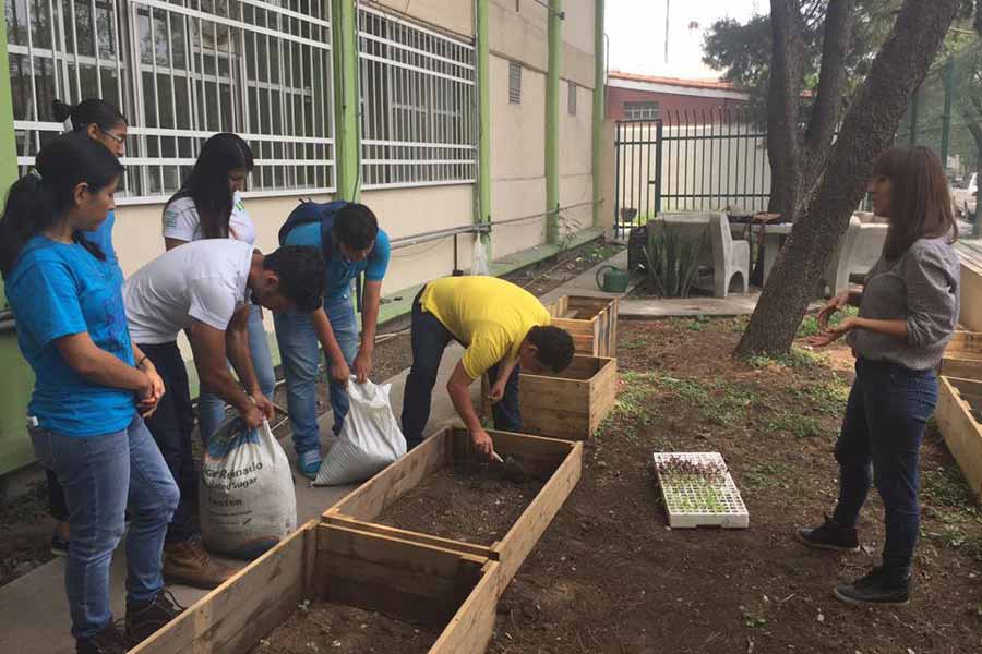
<svg viewBox="0 0 982 654"><path fill-rule="evenodd" d="M982 382L941 377L937 425L975 499L982 499Z"/></svg>

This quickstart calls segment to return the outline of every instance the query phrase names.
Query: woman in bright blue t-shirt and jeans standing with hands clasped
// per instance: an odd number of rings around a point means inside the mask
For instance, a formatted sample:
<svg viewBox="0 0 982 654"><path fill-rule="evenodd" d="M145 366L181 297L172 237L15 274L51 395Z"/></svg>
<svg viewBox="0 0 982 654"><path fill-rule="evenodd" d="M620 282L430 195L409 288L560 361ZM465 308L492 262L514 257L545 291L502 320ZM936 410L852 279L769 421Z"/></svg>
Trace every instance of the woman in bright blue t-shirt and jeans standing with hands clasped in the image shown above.
<svg viewBox="0 0 982 654"><path fill-rule="evenodd" d="M84 235L113 208L122 171L85 134L59 136L11 186L0 218L0 274L36 377L28 429L68 501L65 590L79 653L125 652L178 613L160 574L178 491L141 417L164 387L130 339L116 264ZM124 635L112 621L109 567L128 502Z"/></svg>

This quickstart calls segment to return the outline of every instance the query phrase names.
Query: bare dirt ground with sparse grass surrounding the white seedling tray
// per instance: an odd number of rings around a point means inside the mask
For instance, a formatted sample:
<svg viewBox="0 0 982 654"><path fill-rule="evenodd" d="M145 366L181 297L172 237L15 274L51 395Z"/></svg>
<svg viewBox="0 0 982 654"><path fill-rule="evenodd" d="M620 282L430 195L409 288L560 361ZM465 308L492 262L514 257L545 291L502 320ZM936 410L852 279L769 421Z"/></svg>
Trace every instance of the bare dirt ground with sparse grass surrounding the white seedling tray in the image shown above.
<svg viewBox="0 0 982 654"><path fill-rule="evenodd" d="M867 609L835 584L878 562L883 507L862 552L793 537L837 496L833 460L851 383L843 346L734 361L738 319L621 322L616 409L583 479L499 605L493 654L982 652L982 511L932 426L911 603ZM670 530L654 451L719 451L747 530Z"/></svg>

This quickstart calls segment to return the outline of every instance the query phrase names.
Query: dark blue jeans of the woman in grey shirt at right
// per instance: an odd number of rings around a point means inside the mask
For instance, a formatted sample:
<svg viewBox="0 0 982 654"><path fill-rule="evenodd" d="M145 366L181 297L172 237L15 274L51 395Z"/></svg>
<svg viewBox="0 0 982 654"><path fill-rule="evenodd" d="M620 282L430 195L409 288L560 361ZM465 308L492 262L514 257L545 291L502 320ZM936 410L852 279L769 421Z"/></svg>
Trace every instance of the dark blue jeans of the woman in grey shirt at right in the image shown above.
<svg viewBox="0 0 982 654"><path fill-rule="evenodd" d="M918 462L927 419L937 403L934 371L859 359L836 444L839 501L834 519L854 526L871 484L886 509L885 570L906 578L918 540ZM872 474L871 474L872 464Z"/></svg>

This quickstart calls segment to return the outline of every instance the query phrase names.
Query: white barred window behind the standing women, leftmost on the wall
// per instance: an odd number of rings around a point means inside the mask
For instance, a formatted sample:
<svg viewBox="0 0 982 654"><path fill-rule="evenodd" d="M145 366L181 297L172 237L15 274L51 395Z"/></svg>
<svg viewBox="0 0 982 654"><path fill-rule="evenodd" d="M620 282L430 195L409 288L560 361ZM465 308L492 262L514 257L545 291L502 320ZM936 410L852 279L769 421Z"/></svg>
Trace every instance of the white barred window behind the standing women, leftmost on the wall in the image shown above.
<svg viewBox="0 0 982 654"><path fill-rule="evenodd" d="M327 19L327 0L11 2L17 162L62 131L55 98L98 97L130 121L121 204L173 193L216 132L253 149L247 196L332 191Z"/></svg>

